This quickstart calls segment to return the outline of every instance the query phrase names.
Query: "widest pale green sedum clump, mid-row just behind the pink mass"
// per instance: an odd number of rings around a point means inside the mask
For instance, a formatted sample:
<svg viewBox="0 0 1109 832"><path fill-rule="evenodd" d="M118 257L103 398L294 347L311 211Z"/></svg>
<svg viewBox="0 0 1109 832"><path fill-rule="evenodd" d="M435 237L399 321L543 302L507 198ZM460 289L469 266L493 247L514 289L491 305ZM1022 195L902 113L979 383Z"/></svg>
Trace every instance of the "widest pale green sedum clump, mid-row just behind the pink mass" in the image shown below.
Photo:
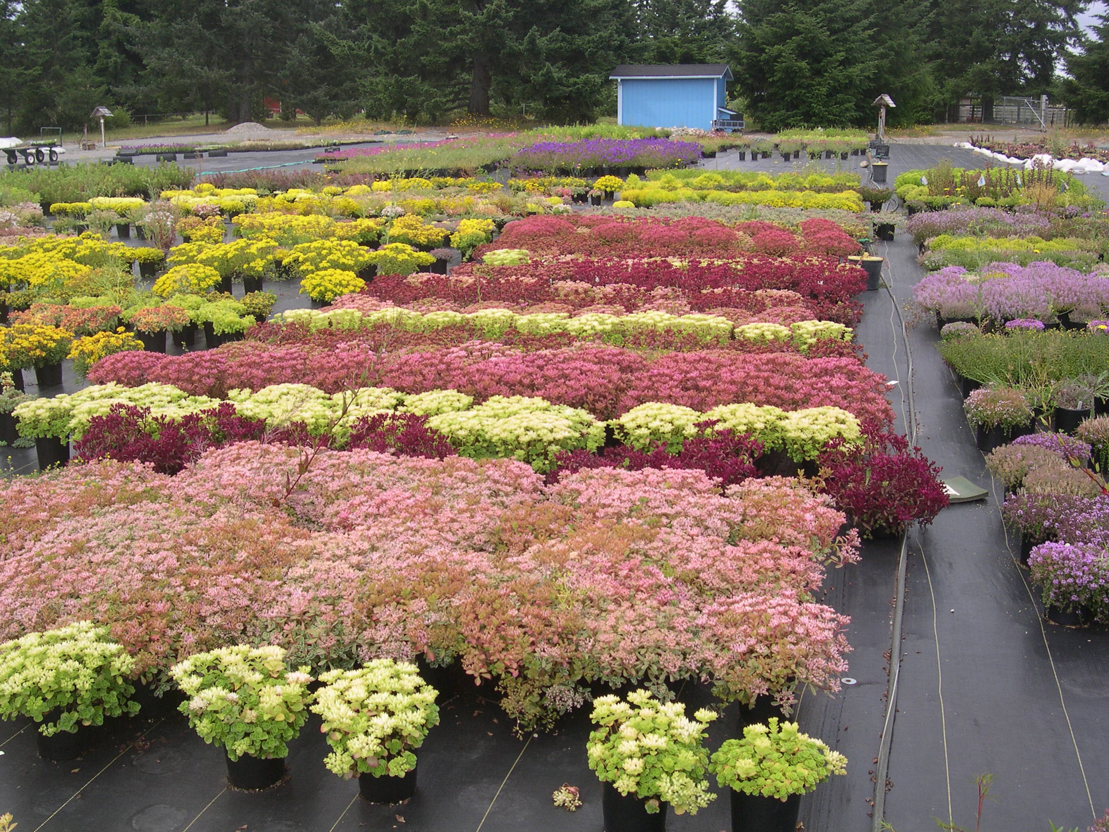
<svg viewBox="0 0 1109 832"><path fill-rule="evenodd" d="M560 450L596 450L604 423L574 407L529 396L492 396L471 410L442 413L427 425L446 436L462 456L509 457L550 470Z"/></svg>

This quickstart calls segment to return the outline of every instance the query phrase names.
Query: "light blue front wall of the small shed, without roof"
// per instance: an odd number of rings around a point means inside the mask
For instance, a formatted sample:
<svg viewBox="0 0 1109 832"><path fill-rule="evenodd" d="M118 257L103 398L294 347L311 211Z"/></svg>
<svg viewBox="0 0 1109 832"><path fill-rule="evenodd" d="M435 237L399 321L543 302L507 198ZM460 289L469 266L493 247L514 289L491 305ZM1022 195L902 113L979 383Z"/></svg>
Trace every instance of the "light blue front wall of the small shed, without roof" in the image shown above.
<svg viewBox="0 0 1109 832"><path fill-rule="evenodd" d="M619 83L621 124L712 129L718 93L711 78L627 79Z"/></svg>

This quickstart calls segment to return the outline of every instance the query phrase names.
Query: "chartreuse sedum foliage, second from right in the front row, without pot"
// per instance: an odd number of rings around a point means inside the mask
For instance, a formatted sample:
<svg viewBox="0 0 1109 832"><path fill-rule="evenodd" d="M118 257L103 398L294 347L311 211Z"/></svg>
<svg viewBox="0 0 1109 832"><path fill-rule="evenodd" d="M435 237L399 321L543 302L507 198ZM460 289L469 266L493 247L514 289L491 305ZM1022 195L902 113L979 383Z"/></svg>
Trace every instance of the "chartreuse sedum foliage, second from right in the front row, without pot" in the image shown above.
<svg viewBox="0 0 1109 832"><path fill-rule="evenodd" d="M680 702L660 702L637 690L627 702L617 696L593 700L590 719L598 728L586 745L589 768L621 794L643 800L649 813L669 803L676 814L696 814L716 797L705 780L703 744L705 727L716 719L713 711L701 709L689 719Z"/></svg>

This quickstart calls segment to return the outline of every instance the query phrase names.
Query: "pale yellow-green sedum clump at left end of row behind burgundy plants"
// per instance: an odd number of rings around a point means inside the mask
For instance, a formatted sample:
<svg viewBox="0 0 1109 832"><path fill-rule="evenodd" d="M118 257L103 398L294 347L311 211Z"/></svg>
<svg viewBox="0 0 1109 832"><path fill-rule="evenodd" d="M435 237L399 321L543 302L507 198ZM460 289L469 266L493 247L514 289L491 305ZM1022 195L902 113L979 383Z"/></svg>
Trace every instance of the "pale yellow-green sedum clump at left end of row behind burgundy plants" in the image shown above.
<svg viewBox="0 0 1109 832"><path fill-rule="evenodd" d="M35 398L12 410L19 419L21 436L29 438L52 436L74 442L84 436L93 416L104 416L112 405L126 404L151 408L153 416L180 419L218 405L207 396L190 396L170 384L150 382L138 387L124 387L112 382L85 387L73 394L59 394L53 398Z"/></svg>

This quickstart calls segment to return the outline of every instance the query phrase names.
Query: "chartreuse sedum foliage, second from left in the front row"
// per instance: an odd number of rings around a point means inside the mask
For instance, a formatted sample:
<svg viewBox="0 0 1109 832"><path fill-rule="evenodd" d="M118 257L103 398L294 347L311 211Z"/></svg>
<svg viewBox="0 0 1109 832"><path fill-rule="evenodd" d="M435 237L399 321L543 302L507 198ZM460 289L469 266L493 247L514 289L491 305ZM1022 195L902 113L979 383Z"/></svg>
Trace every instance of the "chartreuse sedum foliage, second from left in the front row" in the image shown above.
<svg viewBox="0 0 1109 832"><path fill-rule="evenodd" d="M191 656L170 670L189 697L181 712L204 742L222 745L228 760L281 759L308 718L312 677L289 670L285 650L236 645Z"/></svg>

